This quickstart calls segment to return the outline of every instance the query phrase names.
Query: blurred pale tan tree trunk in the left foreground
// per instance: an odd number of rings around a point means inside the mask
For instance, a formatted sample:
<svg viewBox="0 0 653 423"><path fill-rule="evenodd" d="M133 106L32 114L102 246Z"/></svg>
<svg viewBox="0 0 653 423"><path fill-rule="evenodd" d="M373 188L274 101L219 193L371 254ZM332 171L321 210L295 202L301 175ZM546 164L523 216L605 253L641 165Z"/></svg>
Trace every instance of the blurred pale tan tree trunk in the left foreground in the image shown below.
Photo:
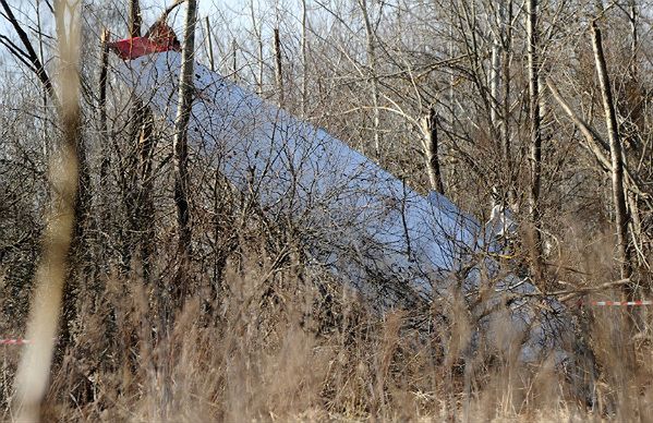
<svg viewBox="0 0 653 423"><path fill-rule="evenodd" d="M38 421L40 418L40 402L50 376L69 249L75 227L78 184L76 154L82 136L77 69L80 22L76 4L69 5L63 1L55 3L61 82L61 107L58 111L63 140L60 144L61 158L50 164L52 203L44 233L43 254L35 275L35 292L27 325L27 337L32 343L24 350L14 382L16 418L23 422ZM66 32L62 31L64 25Z"/></svg>

